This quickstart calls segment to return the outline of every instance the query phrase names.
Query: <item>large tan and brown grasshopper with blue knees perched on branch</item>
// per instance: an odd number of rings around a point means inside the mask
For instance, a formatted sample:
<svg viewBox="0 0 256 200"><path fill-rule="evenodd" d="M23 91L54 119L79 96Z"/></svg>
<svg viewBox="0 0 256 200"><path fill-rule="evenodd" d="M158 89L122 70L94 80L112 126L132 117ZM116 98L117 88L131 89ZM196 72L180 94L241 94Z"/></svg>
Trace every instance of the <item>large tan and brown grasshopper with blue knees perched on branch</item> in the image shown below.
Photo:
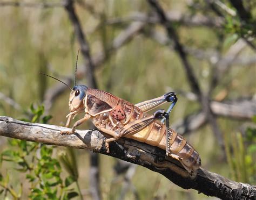
<svg viewBox="0 0 256 200"><path fill-rule="evenodd" d="M197 172L201 166L199 153L184 137L169 127L169 113L178 100L174 92L132 104L109 92L88 88L86 85L76 85L76 81L70 90L70 113L66 116L66 127L70 126L71 119L78 113L85 112L85 115L73 124L71 131L62 131L61 134L74 134L77 126L91 118L98 130L112 136L105 141L107 153L110 152L110 142L126 137L165 149L166 155L180 161L188 173ZM157 110L153 115L147 116L147 112L166 102L172 102L167 112Z"/></svg>

